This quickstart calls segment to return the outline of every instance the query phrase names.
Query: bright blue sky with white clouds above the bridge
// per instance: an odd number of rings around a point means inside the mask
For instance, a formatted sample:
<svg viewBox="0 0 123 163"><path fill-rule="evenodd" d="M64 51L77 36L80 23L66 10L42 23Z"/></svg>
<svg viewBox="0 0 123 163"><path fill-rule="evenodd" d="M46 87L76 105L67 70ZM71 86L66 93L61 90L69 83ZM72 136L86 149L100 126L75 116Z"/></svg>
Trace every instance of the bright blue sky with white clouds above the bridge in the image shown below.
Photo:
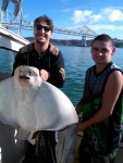
<svg viewBox="0 0 123 163"><path fill-rule="evenodd" d="M87 25L97 34L123 39L123 0L23 0L22 11L24 20L32 23L46 14L56 27L74 29ZM33 30L23 30L22 35L33 36ZM56 33L52 38L81 39Z"/></svg>

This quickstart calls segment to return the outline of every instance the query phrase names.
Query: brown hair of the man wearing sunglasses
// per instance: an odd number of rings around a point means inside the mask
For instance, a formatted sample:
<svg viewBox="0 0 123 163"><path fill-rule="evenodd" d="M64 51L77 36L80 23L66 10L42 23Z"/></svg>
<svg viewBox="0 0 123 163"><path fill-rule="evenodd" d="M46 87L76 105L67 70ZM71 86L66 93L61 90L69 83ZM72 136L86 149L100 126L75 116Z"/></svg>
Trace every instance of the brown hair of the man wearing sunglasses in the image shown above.
<svg viewBox="0 0 123 163"><path fill-rule="evenodd" d="M53 22L52 22L52 20L50 17L48 17L47 15L42 15L42 16L37 17L34 21L34 27L35 27L36 24L38 24L40 22L46 22L47 25L49 25L51 32L53 32Z"/></svg>

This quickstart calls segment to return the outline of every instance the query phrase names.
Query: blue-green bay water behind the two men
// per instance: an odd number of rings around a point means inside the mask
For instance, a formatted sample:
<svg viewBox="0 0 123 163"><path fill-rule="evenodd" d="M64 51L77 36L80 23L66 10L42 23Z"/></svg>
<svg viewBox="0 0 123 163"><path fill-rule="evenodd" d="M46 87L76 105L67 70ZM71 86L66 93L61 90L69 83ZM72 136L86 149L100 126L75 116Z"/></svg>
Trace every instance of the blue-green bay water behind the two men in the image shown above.
<svg viewBox="0 0 123 163"><path fill-rule="evenodd" d="M82 95L86 70L94 64L88 47L64 47L61 49L65 62L65 84L62 91L70 98L74 105L77 104ZM0 72L12 72L13 53L10 51L7 55L4 50L0 50ZM112 61L123 70L123 50L116 48Z"/></svg>

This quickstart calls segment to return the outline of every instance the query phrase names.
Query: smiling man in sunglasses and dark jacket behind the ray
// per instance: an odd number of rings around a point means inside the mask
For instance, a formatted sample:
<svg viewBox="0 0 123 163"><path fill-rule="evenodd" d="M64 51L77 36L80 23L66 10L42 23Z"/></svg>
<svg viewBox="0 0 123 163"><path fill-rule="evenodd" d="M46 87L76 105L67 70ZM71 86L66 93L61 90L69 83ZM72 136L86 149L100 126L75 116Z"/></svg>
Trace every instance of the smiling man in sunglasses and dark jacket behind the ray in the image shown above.
<svg viewBox="0 0 123 163"><path fill-rule="evenodd" d="M52 32L53 22L50 17L44 15L34 21L35 42L20 49L13 64L13 74L17 66L30 65L39 70L44 80L58 88L63 86L65 79L64 60L61 51L50 43ZM56 133L37 131L35 137L35 146L25 141L23 163L54 163Z"/></svg>

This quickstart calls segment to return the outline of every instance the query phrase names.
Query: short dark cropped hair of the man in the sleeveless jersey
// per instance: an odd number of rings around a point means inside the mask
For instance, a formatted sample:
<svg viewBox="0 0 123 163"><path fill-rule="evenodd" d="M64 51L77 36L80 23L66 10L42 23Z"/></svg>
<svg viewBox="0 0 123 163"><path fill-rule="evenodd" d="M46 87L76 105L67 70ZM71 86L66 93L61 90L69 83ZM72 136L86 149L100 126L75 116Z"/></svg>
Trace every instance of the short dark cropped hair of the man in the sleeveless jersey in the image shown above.
<svg viewBox="0 0 123 163"><path fill-rule="evenodd" d="M93 47L94 42L97 41L97 40L99 40L99 41L107 41L107 42L110 41L112 47L114 46L113 45L113 39L107 34L101 34L101 35L96 36L94 38L93 42L91 42L91 47Z"/></svg>

